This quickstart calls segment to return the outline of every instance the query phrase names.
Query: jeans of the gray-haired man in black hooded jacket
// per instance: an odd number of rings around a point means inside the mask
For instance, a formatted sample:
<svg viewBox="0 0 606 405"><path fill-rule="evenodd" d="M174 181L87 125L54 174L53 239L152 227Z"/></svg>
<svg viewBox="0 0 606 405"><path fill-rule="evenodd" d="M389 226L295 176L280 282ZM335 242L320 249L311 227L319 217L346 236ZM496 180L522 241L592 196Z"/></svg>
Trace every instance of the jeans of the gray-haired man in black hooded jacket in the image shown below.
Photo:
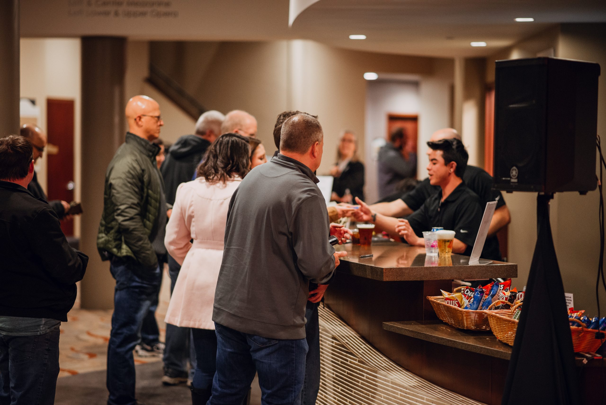
<svg viewBox="0 0 606 405"><path fill-rule="evenodd" d="M170 293L172 295L179 276L181 266L168 255L168 275L170 276ZM190 345L191 329L166 324L166 347L164 348L164 369L177 372L187 372L187 360L190 362L190 380L196 368L196 353L193 344Z"/></svg>

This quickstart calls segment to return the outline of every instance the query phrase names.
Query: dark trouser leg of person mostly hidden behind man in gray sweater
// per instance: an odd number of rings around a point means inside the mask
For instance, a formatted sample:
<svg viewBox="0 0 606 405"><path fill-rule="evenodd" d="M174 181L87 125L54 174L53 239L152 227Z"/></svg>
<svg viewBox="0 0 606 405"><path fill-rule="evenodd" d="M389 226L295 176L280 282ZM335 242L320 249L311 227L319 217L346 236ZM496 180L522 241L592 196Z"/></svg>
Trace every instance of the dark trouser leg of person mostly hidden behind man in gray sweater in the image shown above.
<svg viewBox="0 0 606 405"><path fill-rule="evenodd" d="M320 303L307 301L305 307L305 339L307 340L307 358L305 358L305 381L301 391L301 405L314 405L320 389L320 325L318 306Z"/></svg>

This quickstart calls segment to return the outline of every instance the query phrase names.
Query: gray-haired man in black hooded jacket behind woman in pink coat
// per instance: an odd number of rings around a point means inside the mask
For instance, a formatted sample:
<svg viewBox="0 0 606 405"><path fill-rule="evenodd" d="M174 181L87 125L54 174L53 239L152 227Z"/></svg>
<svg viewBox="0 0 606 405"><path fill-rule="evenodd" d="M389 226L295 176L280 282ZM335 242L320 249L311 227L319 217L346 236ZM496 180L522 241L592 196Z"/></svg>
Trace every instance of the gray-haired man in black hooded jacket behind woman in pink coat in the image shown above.
<svg viewBox="0 0 606 405"><path fill-rule="evenodd" d="M215 110L205 112L196 122L194 135L184 135L177 139L170 147L166 159L162 164L160 172L164 178L167 204L175 203L177 187L183 182L191 180L196 172L196 166L201 161L206 149L215 139L221 135L221 125L225 116ZM170 291L179 275L181 266L168 255L168 274L170 275ZM162 383L165 385L176 385L188 380L187 361L190 361L191 375L196 364L196 356L191 355L189 346L190 329L166 325L166 346L164 348L164 376ZM189 378L191 380L191 378Z"/></svg>

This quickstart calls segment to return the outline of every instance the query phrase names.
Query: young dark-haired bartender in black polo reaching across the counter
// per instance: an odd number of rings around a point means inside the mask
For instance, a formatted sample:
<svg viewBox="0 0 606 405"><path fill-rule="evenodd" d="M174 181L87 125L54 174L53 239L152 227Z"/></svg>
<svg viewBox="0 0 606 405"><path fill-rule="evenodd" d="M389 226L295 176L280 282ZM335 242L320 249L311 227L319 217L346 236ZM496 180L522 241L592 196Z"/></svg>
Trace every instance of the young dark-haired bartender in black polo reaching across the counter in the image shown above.
<svg viewBox="0 0 606 405"><path fill-rule="evenodd" d="M479 197L462 180L467 167L468 154L458 139L427 142L430 162L427 166L431 186L439 186L437 193L428 198L420 209L407 219L396 219L373 212L364 202L355 213L358 221L371 221L394 237L404 237L408 244L425 246L422 232L441 226L454 230L453 253L470 255L476 233L482 220ZM396 221L396 223L394 223Z"/></svg>

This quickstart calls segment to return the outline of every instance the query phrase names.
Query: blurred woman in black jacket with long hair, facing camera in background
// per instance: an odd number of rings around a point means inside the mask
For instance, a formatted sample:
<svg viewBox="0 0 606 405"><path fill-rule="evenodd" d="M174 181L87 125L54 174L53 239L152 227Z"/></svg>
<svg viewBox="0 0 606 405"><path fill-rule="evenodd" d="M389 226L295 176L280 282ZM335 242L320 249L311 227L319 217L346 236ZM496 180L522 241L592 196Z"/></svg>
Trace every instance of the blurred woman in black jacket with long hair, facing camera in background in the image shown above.
<svg viewBox="0 0 606 405"><path fill-rule="evenodd" d="M345 131L337 149L337 163L330 169L333 181L332 201L364 201L364 163L358 161L358 144L351 131Z"/></svg>

